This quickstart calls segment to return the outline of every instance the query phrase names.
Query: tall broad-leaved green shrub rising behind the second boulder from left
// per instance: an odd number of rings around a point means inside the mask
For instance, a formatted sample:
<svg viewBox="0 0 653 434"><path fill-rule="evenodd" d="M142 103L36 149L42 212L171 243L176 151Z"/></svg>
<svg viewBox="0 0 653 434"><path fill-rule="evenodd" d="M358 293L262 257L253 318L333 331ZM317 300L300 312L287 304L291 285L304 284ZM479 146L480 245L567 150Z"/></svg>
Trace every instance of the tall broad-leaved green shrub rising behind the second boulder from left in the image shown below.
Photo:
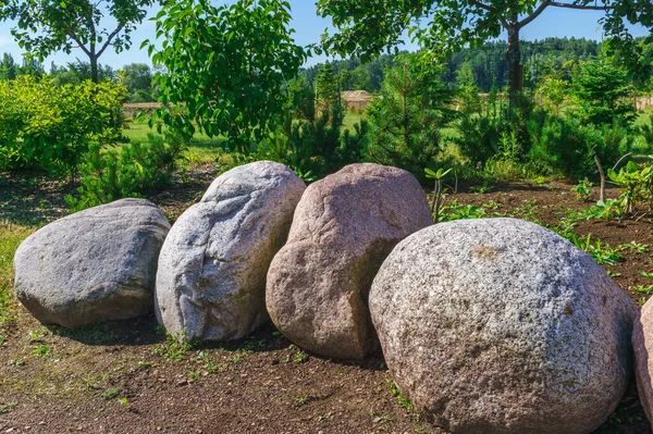
<svg viewBox="0 0 653 434"><path fill-rule="evenodd" d="M249 153L280 125L284 84L306 60L288 28L289 4L281 0L238 0L214 7L208 0L167 1L157 15L157 37L144 47L160 86L161 119L169 127L223 135L232 149ZM156 51L156 52L155 52ZM176 104L180 117L167 109Z"/></svg>

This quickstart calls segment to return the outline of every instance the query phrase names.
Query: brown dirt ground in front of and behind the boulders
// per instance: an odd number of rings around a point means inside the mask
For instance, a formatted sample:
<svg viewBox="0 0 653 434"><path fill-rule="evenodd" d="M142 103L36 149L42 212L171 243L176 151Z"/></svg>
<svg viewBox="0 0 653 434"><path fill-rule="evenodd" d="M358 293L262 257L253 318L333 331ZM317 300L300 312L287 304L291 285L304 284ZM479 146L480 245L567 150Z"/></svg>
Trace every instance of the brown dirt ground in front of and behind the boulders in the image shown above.
<svg viewBox="0 0 653 434"><path fill-rule="evenodd" d="M214 173L211 166L189 172L149 198L172 221L201 197ZM556 225L566 210L591 204L576 199L570 188L509 183L455 197L469 204L501 202L500 212L525 209L528 200L535 206L533 216ZM65 213L62 197L73 189L46 178L0 174L0 219L42 224L60 218ZM653 249L652 228L651 220L642 218L583 221L576 232L613 247L637 240ZM620 273L616 283L636 301L648 298L630 288L649 284L638 272L653 270L651 253L623 253L624 261L607 269ZM294 347L272 325L244 340L183 352L165 340L152 314L70 332L42 326L21 307L4 333L0 433L440 432L399 404L380 352L362 362L324 359ZM181 360L171 361L175 356ZM634 384L596 431L651 432Z"/></svg>

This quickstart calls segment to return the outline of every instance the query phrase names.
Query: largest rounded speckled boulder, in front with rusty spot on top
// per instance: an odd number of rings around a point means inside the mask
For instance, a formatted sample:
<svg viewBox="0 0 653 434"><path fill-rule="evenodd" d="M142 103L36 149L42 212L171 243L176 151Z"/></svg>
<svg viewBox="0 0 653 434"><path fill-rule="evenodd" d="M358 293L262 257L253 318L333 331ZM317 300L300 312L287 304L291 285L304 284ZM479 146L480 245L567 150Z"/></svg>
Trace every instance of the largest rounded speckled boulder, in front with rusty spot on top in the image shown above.
<svg viewBox="0 0 653 434"><path fill-rule="evenodd" d="M406 238L370 311L398 388L453 433L588 433L631 373L637 307L583 251L514 219Z"/></svg>

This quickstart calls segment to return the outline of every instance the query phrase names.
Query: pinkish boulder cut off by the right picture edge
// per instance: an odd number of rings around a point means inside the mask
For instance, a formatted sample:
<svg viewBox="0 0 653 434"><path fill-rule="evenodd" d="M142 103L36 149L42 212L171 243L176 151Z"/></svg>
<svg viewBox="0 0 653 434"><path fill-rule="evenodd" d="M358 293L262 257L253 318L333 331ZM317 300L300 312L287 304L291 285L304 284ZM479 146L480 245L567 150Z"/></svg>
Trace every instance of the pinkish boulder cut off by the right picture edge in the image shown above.
<svg viewBox="0 0 653 434"><path fill-rule="evenodd" d="M634 376L644 412L653 427L653 301L649 299L632 330Z"/></svg>

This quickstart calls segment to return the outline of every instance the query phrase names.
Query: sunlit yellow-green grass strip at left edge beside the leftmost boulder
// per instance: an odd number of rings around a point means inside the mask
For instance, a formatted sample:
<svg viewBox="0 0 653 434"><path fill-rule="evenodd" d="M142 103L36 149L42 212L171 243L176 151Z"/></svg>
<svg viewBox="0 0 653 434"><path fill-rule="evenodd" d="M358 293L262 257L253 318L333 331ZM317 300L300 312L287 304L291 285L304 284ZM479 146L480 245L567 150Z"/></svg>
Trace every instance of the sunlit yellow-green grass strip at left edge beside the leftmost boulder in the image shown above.
<svg viewBox="0 0 653 434"><path fill-rule="evenodd" d="M0 336L4 326L15 320L16 299L13 295L13 257L19 245L34 230L0 221Z"/></svg>

